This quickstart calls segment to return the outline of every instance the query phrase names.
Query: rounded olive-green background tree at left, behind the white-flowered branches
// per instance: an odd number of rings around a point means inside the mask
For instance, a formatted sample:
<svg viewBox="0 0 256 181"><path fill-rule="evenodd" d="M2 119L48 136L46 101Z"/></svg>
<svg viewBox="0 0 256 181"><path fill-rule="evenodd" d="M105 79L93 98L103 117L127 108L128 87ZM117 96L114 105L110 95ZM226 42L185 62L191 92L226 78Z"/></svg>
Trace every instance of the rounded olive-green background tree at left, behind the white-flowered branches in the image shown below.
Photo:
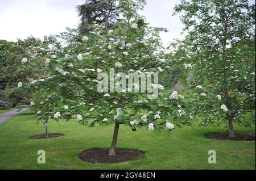
<svg viewBox="0 0 256 181"><path fill-rule="evenodd" d="M40 39L31 36L25 40L19 39L6 54L6 66L3 67L2 78L6 81L6 96L13 106L30 103L31 92L18 89L18 83L40 77L42 74L40 69L36 66L28 68L25 62L34 60L38 54L46 53L46 49L46 44L43 44ZM36 61L31 63L35 65L41 64Z"/></svg>

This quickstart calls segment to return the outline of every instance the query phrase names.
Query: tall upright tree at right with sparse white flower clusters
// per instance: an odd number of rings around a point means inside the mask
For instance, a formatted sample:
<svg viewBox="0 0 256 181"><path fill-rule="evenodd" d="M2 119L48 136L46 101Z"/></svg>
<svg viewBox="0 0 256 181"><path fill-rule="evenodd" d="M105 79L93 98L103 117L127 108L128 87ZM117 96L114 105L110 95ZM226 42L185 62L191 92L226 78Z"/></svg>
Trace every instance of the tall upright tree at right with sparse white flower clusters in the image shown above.
<svg viewBox="0 0 256 181"><path fill-rule="evenodd" d="M193 52L196 112L204 125L226 120L234 137L233 121L241 123L246 105L255 100L255 6L246 0L193 0L174 10L183 13L184 44Z"/></svg>

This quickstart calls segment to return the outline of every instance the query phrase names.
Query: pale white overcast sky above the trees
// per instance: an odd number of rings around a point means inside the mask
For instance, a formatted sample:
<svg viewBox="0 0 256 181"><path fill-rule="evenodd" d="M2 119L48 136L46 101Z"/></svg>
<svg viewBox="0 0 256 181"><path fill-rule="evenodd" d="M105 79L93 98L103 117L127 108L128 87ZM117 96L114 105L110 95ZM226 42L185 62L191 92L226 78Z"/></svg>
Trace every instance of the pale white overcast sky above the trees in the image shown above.
<svg viewBox="0 0 256 181"><path fill-rule="evenodd" d="M171 15L175 3L179 2L147 0L142 12L150 26L169 30L162 33L164 45L181 37L183 25L178 16ZM43 39L44 35L65 31L65 27L75 28L79 23L75 6L82 3L82 0L0 0L0 39L16 41L30 35Z"/></svg>

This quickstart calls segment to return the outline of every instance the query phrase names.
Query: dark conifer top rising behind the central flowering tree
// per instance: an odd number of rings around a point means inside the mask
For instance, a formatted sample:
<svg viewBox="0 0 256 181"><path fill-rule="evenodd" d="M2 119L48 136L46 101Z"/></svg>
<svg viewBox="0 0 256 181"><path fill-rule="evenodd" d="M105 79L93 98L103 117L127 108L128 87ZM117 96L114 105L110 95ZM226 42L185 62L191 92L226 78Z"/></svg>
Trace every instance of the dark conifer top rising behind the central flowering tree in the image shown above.
<svg viewBox="0 0 256 181"><path fill-rule="evenodd" d="M93 23L105 23L108 28L113 28L117 23L118 7L115 0L86 0L84 5L77 6L81 23L79 32L85 35L92 30Z"/></svg>

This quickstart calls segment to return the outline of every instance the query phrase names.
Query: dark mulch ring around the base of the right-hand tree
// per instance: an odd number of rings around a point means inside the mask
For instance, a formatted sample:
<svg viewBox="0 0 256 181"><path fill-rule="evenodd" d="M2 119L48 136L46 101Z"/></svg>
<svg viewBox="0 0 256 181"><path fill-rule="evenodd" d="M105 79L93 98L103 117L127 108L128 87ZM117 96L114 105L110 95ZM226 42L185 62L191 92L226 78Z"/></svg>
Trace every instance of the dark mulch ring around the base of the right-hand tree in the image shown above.
<svg viewBox="0 0 256 181"><path fill-rule="evenodd" d="M235 134L234 138L230 138L229 134L216 133L216 134L208 134L205 137L210 139L216 139L216 140L255 141L255 136L250 136L248 134Z"/></svg>

